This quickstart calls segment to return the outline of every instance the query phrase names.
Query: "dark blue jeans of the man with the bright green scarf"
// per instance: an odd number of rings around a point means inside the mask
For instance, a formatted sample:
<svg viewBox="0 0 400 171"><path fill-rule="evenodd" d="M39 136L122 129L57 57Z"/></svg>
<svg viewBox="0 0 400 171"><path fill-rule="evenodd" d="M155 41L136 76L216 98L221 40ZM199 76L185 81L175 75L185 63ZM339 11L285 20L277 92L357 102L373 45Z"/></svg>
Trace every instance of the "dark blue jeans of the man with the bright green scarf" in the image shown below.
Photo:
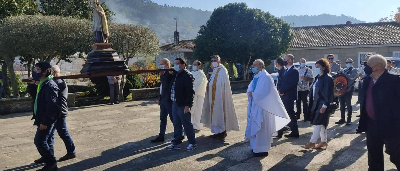
<svg viewBox="0 0 400 171"><path fill-rule="evenodd" d="M40 155L43 157L44 161L46 162L46 165L53 167L56 165L56 159L54 158L54 153L50 149L50 146L48 144L48 139L51 138L52 136L52 130L53 126L49 125L47 126L47 129L40 130L39 127L36 129L36 134L34 138L34 143L36 145L36 148L38 149Z"/></svg>

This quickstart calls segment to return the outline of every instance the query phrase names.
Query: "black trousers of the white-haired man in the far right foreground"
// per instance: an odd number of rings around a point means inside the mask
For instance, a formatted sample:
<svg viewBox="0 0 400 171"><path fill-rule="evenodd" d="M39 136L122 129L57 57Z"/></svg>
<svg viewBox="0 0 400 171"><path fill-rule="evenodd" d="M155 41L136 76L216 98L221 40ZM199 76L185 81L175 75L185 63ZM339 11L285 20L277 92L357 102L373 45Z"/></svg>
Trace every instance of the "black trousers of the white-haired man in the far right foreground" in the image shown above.
<svg viewBox="0 0 400 171"><path fill-rule="evenodd" d="M383 145L390 161L400 170L400 137L383 137L376 121L369 119L367 131L368 171L383 171Z"/></svg>

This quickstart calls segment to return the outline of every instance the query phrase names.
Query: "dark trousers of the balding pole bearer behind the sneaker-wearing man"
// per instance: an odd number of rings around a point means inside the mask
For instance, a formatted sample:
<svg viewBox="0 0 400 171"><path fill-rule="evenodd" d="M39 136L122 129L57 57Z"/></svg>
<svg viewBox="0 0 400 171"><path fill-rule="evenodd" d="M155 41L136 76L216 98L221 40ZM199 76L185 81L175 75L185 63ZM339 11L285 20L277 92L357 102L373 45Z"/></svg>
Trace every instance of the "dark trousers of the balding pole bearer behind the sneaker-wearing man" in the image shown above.
<svg viewBox="0 0 400 171"><path fill-rule="evenodd" d="M164 138L165 130L167 129L167 116L170 115L171 121L173 121L172 117L172 101L171 100L162 100L160 103L160 133L158 136L160 138Z"/></svg>

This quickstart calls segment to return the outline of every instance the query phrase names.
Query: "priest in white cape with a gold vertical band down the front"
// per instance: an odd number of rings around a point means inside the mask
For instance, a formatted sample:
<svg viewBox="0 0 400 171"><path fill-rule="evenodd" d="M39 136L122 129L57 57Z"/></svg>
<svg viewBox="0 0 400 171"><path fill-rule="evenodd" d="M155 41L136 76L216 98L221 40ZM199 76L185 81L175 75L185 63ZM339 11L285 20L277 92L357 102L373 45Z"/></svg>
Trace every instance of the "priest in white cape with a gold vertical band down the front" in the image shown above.
<svg viewBox="0 0 400 171"><path fill-rule="evenodd" d="M221 64L218 55L211 57L214 71L207 84L206 95L200 122L211 129L211 138L222 141L226 132L239 131L239 121L233 103L228 71Z"/></svg>

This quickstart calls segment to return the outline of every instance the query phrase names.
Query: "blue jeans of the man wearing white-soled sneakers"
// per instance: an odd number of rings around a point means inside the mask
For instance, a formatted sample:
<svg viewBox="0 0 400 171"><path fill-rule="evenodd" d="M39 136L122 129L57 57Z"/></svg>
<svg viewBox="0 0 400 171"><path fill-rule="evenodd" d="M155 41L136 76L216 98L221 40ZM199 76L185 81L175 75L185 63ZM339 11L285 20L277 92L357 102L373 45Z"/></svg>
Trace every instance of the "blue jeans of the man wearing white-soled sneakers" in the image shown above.
<svg viewBox="0 0 400 171"><path fill-rule="evenodd" d="M172 122L174 123L174 145L179 145L182 143L182 125L185 129L186 136L190 144L197 144L196 138L194 136L193 125L189 113L184 113L185 106L178 106L178 104L172 102Z"/></svg>

